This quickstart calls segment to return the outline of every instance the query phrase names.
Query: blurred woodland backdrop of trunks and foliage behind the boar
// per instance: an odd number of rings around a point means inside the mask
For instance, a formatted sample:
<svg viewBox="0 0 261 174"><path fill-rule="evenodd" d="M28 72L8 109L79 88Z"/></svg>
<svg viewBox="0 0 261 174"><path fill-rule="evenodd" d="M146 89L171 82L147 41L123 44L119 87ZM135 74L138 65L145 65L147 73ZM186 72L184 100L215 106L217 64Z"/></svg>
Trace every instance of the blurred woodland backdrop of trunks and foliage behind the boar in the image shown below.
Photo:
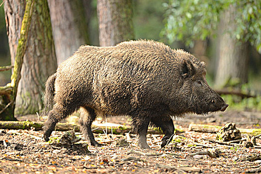
<svg viewBox="0 0 261 174"><path fill-rule="evenodd" d="M13 65L25 5L0 6L0 66ZM230 109L261 110L260 0L35 0L29 38L17 115L42 110L45 81L81 45L132 39L192 53L206 62L209 85ZM0 72L0 86L10 76Z"/></svg>

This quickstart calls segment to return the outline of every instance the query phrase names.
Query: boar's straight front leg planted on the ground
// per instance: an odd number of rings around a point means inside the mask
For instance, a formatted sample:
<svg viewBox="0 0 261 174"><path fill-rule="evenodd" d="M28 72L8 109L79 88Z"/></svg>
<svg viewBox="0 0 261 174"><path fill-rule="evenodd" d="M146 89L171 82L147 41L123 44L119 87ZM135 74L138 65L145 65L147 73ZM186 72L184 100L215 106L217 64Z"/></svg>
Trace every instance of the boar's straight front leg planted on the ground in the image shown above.
<svg viewBox="0 0 261 174"><path fill-rule="evenodd" d="M150 149L146 139L149 122L148 117L132 117L132 127L134 132L138 134L138 146L142 149Z"/></svg>

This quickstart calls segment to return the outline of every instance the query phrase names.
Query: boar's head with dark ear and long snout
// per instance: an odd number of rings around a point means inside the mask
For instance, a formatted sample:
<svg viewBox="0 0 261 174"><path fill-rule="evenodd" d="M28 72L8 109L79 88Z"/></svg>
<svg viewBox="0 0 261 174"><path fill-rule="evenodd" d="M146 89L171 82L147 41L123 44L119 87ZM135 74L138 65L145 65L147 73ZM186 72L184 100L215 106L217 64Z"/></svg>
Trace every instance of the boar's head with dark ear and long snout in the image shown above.
<svg viewBox="0 0 261 174"><path fill-rule="evenodd" d="M205 63L197 61L192 55L183 59L179 66L181 75L182 100L186 102L186 111L196 114L224 111L228 104L221 96L208 86Z"/></svg>

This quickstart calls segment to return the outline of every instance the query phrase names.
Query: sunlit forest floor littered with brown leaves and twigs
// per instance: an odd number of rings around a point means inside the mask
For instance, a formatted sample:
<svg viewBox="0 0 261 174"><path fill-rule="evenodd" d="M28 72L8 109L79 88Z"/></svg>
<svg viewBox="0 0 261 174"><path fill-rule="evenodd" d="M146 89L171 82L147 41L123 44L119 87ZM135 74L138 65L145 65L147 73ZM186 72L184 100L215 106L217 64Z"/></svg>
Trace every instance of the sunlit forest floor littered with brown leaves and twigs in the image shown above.
<svg viewBox="0 0 261 174"><path fill-rule="evenodd" d="M65 132L54 131L51 136L53 141L48 143L41 139L41 131L0 129L0 173L261 173L261 148L211 143L207 139L215 140L216 134L189 131L188 128L191 122L219 126L234 122L237 128L261 128L260 121L261 112L247 111L186 116L174 120L175 128L184 132L176 133L174 140L163 149L160 147L163 135L148 134L151 150L138 148L136 136L132 134L94 134L96 141L104 146L92 147L87 146L80 133L76 135L82 140L68 145L56 141ZM129 124L127 117L111 117L107 122ZM257 138L257 145L261 145L260 138ZM217 158L192 156L204 151L217 154Z"/></svg>

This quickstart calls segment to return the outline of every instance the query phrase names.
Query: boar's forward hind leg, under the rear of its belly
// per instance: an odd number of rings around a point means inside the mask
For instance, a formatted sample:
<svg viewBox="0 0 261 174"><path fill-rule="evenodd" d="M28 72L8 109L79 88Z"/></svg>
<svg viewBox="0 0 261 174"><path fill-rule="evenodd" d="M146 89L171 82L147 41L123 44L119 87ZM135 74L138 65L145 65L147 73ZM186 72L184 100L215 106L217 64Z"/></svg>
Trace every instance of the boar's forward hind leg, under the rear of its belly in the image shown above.
<svg viewBox="0 0 261 174"><path fill-rule="evenodd" d="M82 133L85 135L87 141L89 141L91 146L99 146L100 144L98 144L94 140L94 136L90 128L92 121L94 121L96 118L96 113L94 109L90 107L81 107L80 111L81 111L80 127Z"/></svg>

